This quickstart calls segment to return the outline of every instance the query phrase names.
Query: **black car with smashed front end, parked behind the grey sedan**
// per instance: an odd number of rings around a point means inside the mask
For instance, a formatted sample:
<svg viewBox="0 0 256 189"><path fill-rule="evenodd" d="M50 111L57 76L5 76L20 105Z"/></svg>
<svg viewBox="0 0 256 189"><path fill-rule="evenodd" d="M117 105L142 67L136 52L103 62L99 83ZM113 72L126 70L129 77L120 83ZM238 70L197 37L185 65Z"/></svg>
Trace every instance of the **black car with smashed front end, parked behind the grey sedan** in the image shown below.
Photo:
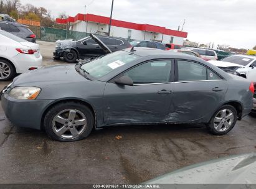
<svg viewBox="0 0 256 189"><path fill-rule="evenodd" d="M131 47L128 40L118 37L100 35L98 39L102 40L111 52ZM105 54L103 48L92 37L85 37L78 41L57 40L55 42L54 59L63 57L65 62L69 63L77 62L77 59L99 57Z"/></svg>

